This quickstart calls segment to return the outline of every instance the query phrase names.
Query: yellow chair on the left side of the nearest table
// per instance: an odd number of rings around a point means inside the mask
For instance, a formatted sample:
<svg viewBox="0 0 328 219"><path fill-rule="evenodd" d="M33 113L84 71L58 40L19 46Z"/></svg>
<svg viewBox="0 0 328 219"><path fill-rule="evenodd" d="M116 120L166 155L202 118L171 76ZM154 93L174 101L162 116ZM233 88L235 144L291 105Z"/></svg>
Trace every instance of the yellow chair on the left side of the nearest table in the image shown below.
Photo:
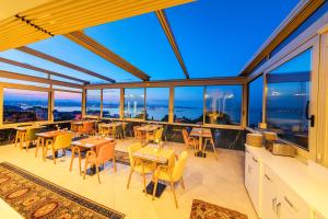
<svg viewBox="0 0 328 219"><path fill-rule="evenodd" d="M141 159L134 158L133 152L136 152L140 148L142 148L142 146L139 142L133 143L128 147L129 159L130 159L130 174L129 174L129 178L128 178L127 188L129 188L132 173L136 171L142 175L143 187L144 187L144 191L147 191L145 174L154 172L156 169L156 164L154 162L145 162L145 161L142 161ZM147 195L147 193L145 193L145 195Z"/></svg>

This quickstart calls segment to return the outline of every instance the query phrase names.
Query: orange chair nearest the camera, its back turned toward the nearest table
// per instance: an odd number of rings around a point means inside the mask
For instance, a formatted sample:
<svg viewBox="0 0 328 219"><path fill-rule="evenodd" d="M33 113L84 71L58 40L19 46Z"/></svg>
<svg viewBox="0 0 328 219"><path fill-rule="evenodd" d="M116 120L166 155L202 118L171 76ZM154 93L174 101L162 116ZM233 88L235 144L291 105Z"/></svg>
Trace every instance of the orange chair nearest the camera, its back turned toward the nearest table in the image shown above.
<svg viewBox="0 0 328 219"><path fill-rule="evenodd" d="M112 160L114 172L116 172L115 146L116 146L116 142L113 141L110 143L97 147L96 151L87 151L86 152L83 180L85 180L85 174L86 174L89 164L95 165L99 184L101 184L99 170L98 170L99 165L104 165L107 161Z"/></svg>

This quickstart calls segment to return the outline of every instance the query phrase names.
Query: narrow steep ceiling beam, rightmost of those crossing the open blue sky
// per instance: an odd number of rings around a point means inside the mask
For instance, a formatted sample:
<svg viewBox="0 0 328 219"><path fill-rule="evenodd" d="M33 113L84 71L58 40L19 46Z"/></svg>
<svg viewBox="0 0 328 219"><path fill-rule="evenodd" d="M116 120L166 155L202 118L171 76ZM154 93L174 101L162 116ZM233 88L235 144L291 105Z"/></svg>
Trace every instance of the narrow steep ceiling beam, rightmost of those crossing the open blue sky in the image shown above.
<svg viewBox="0 0 328 219"><path fill-rule="evenodd" d="M187 67L186 67L185 61L183 59L181 53L179 50L179 47L178 47L178 45L177 45L177 43L175 41L175 37L173 35L173 32L172 32L172 28L169 26L169 23L168 23L168 20L166 18L165 12L163 10L157 10L156 11L156 15L157 15L157 19L159 19L159 21L160 21L160 23L162 25L163 31L166 34L166 37L167 37L167 39L168 39L168 42L171 44L171 47L172 47L172 49L173 49L173 51L174 51L174 54L175 54L175 56L176 56L176 58L178 60L178 62L179 62L183 71L184 71L184 73L186 74L186 78L189 79L190 77L189 77Z"/></svg>

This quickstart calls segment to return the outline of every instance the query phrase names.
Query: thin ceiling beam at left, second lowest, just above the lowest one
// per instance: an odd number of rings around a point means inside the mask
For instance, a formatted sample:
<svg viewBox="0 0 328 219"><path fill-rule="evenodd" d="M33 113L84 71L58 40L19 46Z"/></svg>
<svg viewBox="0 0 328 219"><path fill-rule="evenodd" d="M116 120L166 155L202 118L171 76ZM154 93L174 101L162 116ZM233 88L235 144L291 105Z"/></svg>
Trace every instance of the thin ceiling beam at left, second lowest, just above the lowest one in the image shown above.
<svg viewBox="0 0 328 219"><path fill-rule="evenodd" d="M47 69L31 66L28 64L14 61L14 60L7 59L7 58L3 58L3 57L0 57L0 61L4 62L4 64L12 65L12 66L16 66L16 67L21 67L21 68L34 70L34 71L39 71L39 72L43 72L43 73L49 73L51 76L57 76L57 77L60 77L60 78L72 80L72 81L78 81L78 82L81 82L81 83L84 83L84 84L89 83L89 81L84 81L84 80L81 80L81 79L78 79L78 78L74 78L74 77L70 77L70 76L67 76L67 74L62 74L62 73L57 73L55 71L50 71L50 70L47 70Z"/></svg>

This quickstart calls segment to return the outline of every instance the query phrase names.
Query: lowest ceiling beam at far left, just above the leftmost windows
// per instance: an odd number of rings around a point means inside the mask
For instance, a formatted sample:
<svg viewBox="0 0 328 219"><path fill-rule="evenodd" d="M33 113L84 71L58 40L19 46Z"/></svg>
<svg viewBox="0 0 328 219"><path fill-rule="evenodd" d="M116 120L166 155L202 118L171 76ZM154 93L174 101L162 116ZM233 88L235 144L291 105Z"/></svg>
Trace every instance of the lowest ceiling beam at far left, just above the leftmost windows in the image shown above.
<svg viewBox="0 0 328 219"><path fill-rule="evenodd" d="M61 85L61 87L70 87L70 88L77 88L77 89L83 88L83 85L77 84L77 83L69 83L69 82L58 81L58 80L52 80L52 79L44 79L44 78L39 78L39 77L34 77L34 76L25 76L22 73L3 71L3 70L0 70L0 77L8 78L8 79L14 79L14 80L22 80L22 81L33 81L33 82L37 82L37 83L47 83L47 84L55 84L55 85Z"/></svg>

